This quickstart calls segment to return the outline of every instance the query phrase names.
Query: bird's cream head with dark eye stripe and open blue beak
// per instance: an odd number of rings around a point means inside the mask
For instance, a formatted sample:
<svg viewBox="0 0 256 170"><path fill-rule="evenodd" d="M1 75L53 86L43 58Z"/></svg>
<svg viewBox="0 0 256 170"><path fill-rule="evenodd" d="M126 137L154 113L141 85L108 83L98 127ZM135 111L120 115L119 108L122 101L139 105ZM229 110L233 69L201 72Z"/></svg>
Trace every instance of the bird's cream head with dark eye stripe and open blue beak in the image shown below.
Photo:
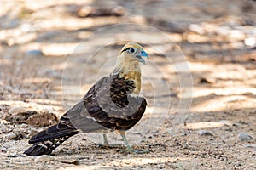
<svg viewBox="0 0 256 170"><path fill-rule="evenodd" d="M135 42L129 42L122 48L119 53L119 57L124 59L126 62L142 62L143 64L146 64L143 57L148 58L148 54L139 44Z"/></svg>

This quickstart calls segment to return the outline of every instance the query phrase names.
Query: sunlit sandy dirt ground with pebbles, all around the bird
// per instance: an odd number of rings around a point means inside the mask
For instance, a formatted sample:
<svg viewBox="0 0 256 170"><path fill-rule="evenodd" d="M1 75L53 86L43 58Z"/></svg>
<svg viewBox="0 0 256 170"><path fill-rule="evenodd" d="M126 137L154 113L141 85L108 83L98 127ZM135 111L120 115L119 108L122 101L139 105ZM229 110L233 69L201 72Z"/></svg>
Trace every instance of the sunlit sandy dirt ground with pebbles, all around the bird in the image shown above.
<svg viewBox="0 0 256 170"><path fill-rule="evenodd" d="M256 169L255 11L249 0L2 1L0 168ZM133 40L150 56L148 108L127 137L152 152L120 153L99 147L100 134L79 134L51 156L22 154Z"/></svg>

